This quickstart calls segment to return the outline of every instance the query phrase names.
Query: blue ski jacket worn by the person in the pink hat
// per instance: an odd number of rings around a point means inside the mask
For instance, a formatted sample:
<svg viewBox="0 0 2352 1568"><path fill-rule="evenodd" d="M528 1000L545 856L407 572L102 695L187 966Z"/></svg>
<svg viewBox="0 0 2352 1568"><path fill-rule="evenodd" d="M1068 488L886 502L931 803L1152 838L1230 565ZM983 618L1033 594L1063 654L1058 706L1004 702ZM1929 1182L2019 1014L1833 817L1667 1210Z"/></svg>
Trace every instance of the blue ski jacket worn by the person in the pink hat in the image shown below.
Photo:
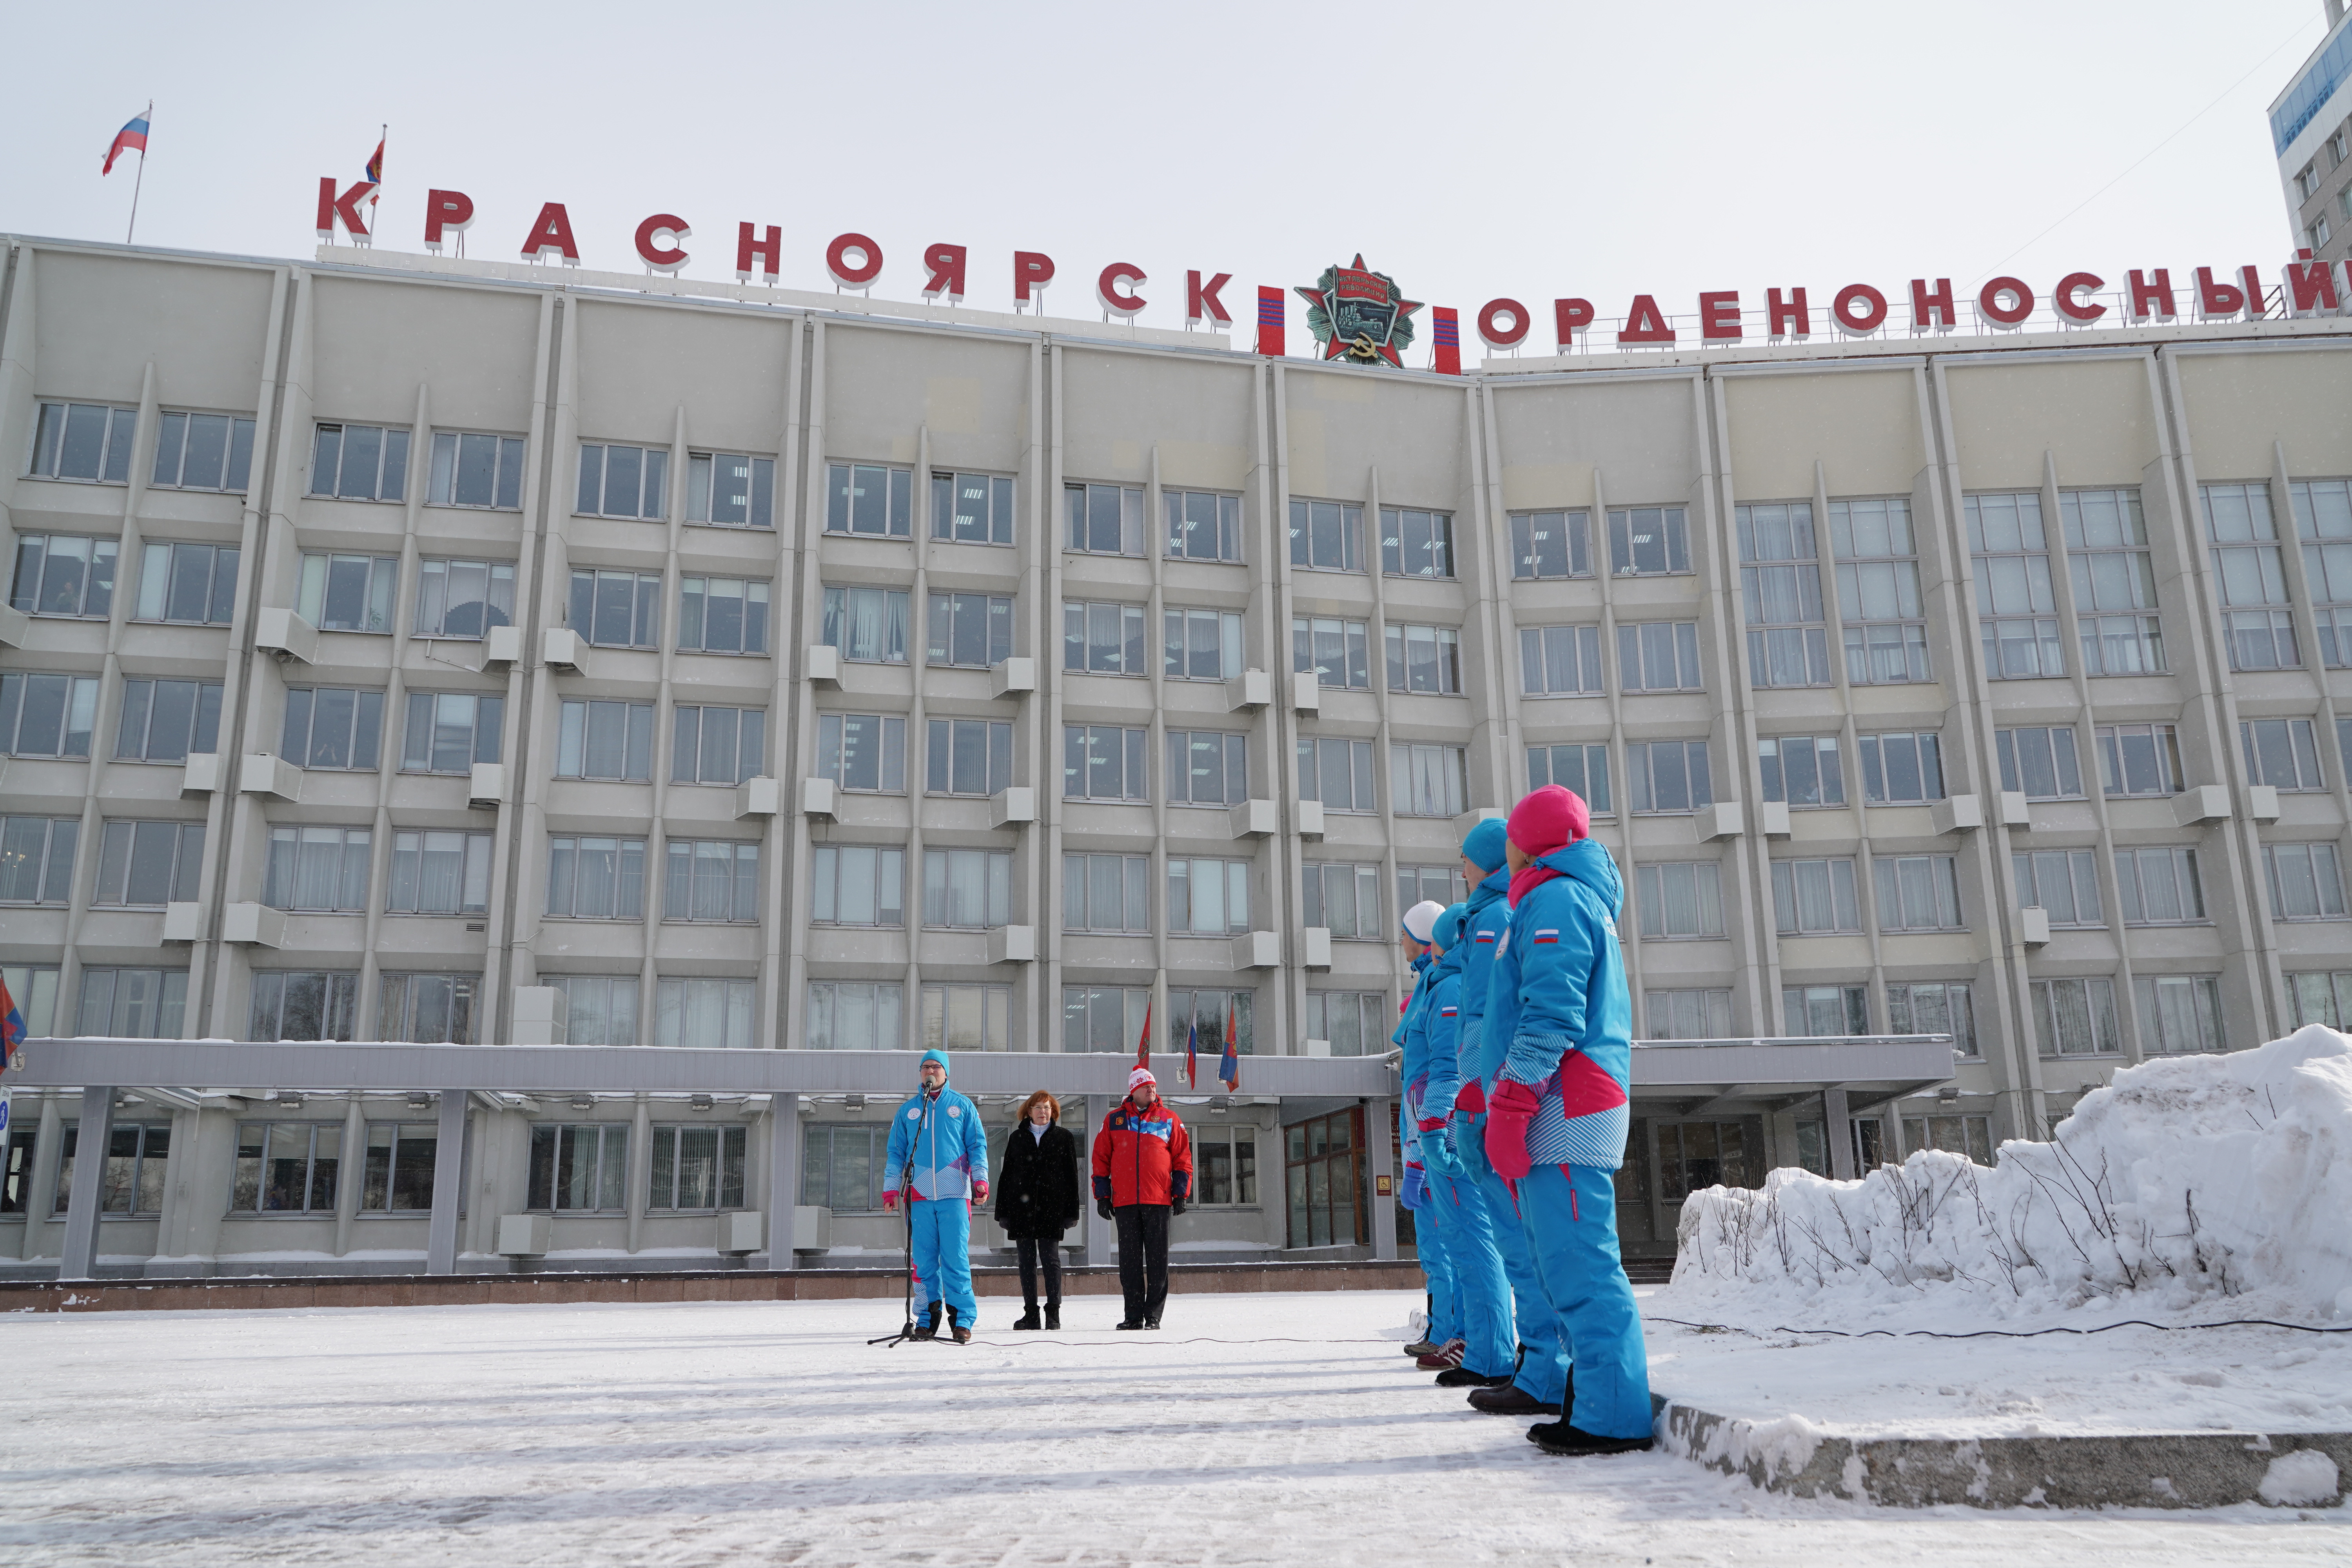
<svg viewBox="0 0 2352 1568"><path fill-rule="evenodd" d="M1616 1171L1632 1081L1632 997L1616 931L1625 882L1592 839L1536 865L1559 875L1510 912L1486 990L1486 1037L1510 1041L1498 1077L1536 1088L1529 1157Z"/></svg>

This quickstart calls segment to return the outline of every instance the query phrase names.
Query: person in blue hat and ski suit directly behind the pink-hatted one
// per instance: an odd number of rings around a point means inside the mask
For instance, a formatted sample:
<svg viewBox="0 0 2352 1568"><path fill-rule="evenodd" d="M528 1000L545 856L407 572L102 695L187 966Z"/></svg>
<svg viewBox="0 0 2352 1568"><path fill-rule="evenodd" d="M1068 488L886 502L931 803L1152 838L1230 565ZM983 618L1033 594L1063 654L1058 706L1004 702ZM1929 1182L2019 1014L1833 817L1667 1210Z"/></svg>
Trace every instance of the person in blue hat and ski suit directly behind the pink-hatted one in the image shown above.
<svg viewBox="0 0 2352 1568"><path fill-rule="evenodd" d="M1512 1319L1519 1328L1519 1363L1510 1385L1470 1389L1470 1406L1491 1415L1566 1415L1569 1347L1559 1335L1559 1316L1543 1298L1536 1262L1526 1251L1519 1204L1486 1161L1486 1091L1503 1065L1510 1041L1486 1044L1486 985L1494 978L1494 954L1510 929L1510 867L1503 865L1503 820L1486 818L1463 835L1463 875L1470 900L1463 905L1461 1018L1458 1058L1461 1091L1446 1121L1446 1147L1486 1199L1494 1220L1494 1246L1510 1281Z"/></svg>

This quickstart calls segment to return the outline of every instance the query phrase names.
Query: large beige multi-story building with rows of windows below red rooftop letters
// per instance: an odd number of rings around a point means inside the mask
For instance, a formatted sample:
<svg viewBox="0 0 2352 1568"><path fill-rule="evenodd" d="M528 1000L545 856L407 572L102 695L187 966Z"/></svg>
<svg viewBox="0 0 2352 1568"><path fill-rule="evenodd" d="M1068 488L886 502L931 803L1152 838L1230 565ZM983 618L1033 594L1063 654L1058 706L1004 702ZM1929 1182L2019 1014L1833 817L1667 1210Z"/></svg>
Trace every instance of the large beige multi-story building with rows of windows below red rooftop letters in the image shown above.
<svg viewBox="0 0 2352 1568"><path fill-rule="evenodd" d="M0 959L35 1034L555 994L572 1044L1378 1053L1402 907L1564 783L1642 1034L1959 1046L1926 1098L1637 1098L1670 1251L1693 1185L1990 1159L2352 1009L2347 390L2338 317L1442 376L7 240ZM1362 1241L1364 1107L1247 1077L1178 1234ZM837 1246L894 1237L887 1088L790 1145ZM125 1105L101 1253L407 1255L426 1105ZM19 1095L0 1253L56 1255L73 1107ZM468 1251L708 1258L755 1114L492 1100Z"/></svg>

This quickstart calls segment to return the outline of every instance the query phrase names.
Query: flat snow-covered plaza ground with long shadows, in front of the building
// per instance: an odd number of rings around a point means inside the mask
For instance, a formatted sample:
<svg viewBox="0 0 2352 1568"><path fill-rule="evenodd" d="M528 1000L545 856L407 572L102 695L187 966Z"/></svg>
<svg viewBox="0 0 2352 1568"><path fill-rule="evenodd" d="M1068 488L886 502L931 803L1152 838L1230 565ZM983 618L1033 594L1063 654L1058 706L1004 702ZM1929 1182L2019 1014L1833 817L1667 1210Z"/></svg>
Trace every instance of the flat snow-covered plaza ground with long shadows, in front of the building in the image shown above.
<svg viewBox="0 0 2352 1568"><path fill-rule="evenodd" d="M1397 1354L1402 1293L1178 1295L866 1347L894 1302L0 1321L21 1563L2343 1563L2352 1509L1893 1512L1552 1460ZM1689 1335L1719 1340L1729 1335ZM2117 1338L2117 1335L2103 1335ZM1884 1347L1884 1340L1870 1340ZM1900 1345L1900 1342L1898 1342ZM2037 1345L2046 1345L2037 1340ZM2072 1342L2058 1354L2072 1354ZM1653 1345L1658 1387L1703 1359ZM1712 1356L1715 1349L1710 1347ZM1872 1359L1893 1352L1870 1349Z"/></svg>

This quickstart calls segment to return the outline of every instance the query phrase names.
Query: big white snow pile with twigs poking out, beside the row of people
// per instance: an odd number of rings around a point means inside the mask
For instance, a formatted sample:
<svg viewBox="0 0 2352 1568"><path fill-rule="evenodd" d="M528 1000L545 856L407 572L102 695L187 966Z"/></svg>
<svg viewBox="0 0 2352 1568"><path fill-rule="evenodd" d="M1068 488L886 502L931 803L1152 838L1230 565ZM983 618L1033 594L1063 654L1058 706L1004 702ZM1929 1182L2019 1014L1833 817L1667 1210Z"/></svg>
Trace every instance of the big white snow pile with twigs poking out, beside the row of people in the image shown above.
<svg viewBox="0 0 2352 1568"><path fill-rule="evenodd" d="M2232 1309L2352 1319L2352 1037L2312 1025L2126 1067L2051 1143L2004 1143L1994 1168L1919 1152L1858 1182L1773 1171L1762 1192L1693 1192L1677 1241L1653 1309L1682 1316L2251 1298Z"/></svg>

